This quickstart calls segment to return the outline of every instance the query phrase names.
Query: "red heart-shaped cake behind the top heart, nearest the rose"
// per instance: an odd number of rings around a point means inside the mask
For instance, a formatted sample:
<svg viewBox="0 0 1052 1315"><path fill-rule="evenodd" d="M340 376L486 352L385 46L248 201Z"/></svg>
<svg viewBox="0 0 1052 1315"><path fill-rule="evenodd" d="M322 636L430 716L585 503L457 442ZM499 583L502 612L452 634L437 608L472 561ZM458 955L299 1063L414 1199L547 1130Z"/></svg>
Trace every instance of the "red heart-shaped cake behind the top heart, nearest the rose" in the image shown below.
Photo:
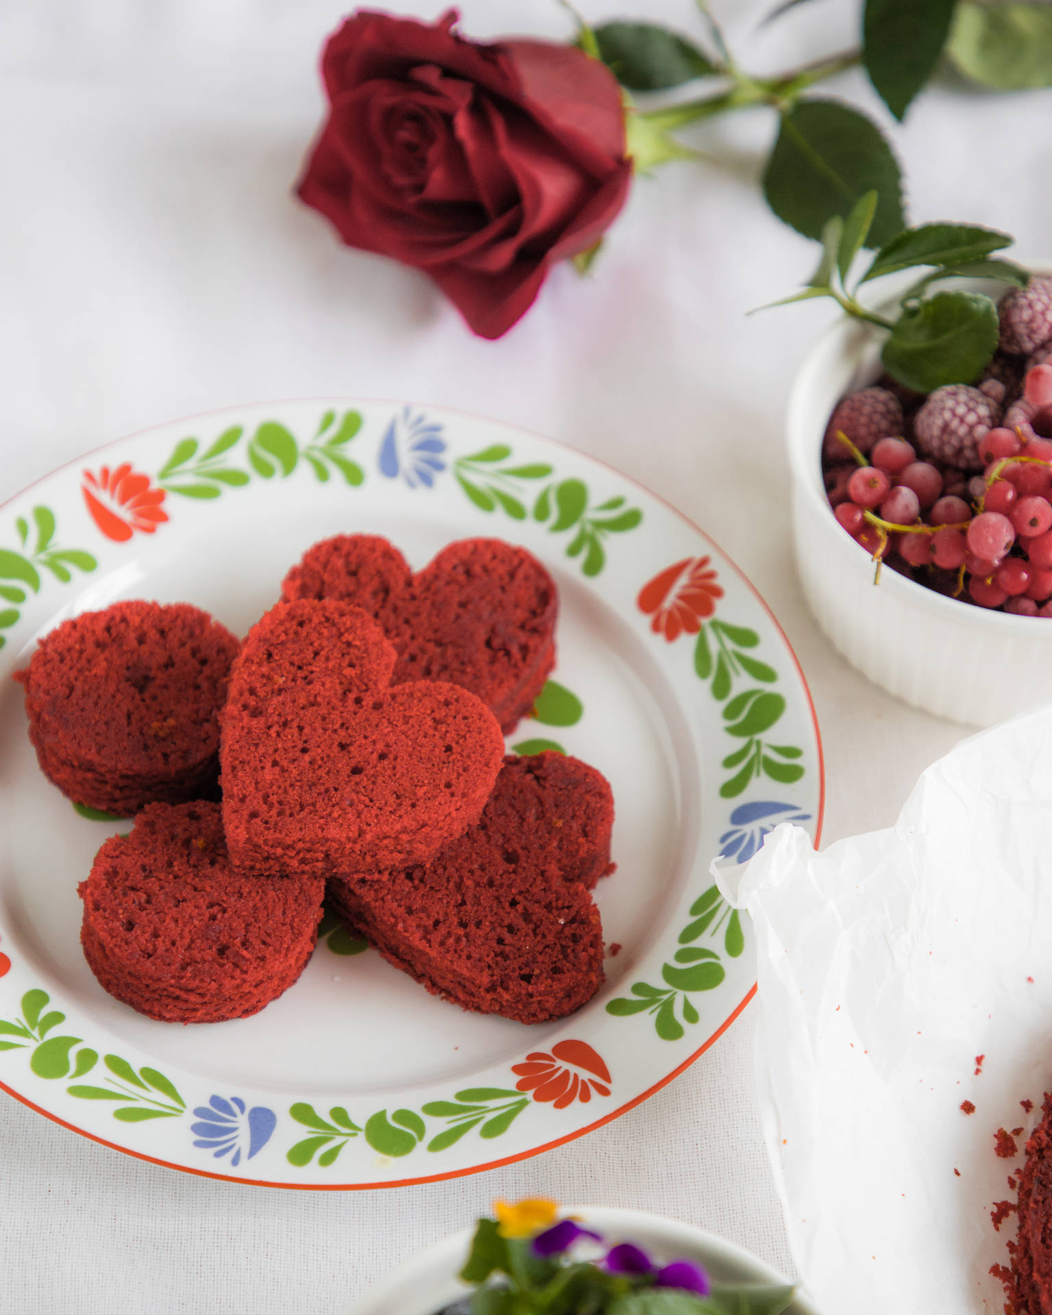
<svg viewBox="0 0 1052 1315"><path fill-rule="evenodd" d="M555 581L530 552L501 539L451 543L413 575L387 539L339 534L308 548L281 597L363 608L398 654L392 684L442 680L469 689L505 734L555 665Z"/></svg>

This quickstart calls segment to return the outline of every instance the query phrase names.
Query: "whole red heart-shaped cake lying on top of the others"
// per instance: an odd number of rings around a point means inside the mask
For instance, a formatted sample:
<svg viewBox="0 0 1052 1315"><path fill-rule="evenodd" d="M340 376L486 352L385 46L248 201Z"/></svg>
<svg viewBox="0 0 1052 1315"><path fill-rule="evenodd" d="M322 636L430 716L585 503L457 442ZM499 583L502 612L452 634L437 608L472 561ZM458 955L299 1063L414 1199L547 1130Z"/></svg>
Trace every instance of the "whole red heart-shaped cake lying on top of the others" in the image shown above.
<svg viewBox="0 0 1052 1315"><path fill-rule="evenodd" d="M500 726L458 685L388 688L394 648L360 608L279 602L230 672L222 819L238 869L384 873L426 863L479 819Z"/></svg>

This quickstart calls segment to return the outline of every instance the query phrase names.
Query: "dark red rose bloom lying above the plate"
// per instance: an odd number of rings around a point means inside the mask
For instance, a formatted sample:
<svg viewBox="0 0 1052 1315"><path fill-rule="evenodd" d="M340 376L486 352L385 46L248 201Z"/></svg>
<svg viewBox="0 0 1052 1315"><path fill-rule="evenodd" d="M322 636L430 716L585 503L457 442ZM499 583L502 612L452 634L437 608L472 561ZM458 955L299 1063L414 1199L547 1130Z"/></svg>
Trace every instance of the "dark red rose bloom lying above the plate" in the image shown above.
<svg viewBox="0 0 1052 1315"><path fill-rule="evenodd" d="M348 246L423 270L484 338L613 222L631 178L613 74L573 46L480 45L363 11L322 55L331 110L300 184Z"/></svg>

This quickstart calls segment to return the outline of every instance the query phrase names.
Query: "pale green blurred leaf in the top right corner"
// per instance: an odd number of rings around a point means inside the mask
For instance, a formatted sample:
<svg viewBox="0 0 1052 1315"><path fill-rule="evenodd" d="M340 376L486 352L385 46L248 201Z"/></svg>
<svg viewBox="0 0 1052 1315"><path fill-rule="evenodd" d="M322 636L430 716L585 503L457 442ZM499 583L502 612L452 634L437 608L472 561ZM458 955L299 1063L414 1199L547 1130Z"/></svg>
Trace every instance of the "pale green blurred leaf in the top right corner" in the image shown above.
<svg viewBox="0 0 1052 1315"><path fill-rule="evenodd" d="M1052 7L959 4L947 51L984 87L1052 87Z"/></svg>

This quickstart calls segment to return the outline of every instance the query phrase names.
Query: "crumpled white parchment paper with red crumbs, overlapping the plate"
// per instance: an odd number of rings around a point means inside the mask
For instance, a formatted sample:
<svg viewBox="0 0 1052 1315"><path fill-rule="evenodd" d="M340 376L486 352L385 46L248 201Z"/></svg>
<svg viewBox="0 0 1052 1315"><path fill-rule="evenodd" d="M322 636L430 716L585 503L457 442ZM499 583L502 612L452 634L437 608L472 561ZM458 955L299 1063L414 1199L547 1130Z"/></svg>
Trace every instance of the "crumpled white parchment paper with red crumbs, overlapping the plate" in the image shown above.
<svg viewBox="0 0 1052 1315"><path fill-rule="evenodd" d="M756 928L764 1135L807 1293L999 1315L1014 1219L990 1211L1052 1090L1052 707L959 744L886 831L817 853L784 825L714 872ZM1023 1130L1015 1159L998 1128Z"/></svg>

